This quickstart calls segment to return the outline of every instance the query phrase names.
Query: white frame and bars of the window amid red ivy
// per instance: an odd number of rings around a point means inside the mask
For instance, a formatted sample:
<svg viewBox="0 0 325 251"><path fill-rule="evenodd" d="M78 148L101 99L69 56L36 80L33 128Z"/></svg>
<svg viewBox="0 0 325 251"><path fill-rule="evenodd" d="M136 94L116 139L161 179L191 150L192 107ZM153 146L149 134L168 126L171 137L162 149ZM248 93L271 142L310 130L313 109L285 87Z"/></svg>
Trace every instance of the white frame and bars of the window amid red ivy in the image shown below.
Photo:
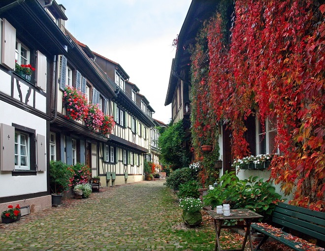
<svg viewBox="0 0 325 251"><path fill-rule="evenodd" d="M273 123L276 123L276 118L273 118ZM256 153L257 155L259 154L272 154L274 153L274 149L270 149L270 140L271 140L271 133L277 132L277 127L275 128L270 128L270 120L267 118L265 120L265 131L261 131L261 123L260 120L257 118L256 119ZM263 137L263 140L265 140L265 153L261 152L261 147L260 147L260 138ZM273 139L274 141L274 139ZM276 149L275 153L279 154L279 148Z"/></svg>

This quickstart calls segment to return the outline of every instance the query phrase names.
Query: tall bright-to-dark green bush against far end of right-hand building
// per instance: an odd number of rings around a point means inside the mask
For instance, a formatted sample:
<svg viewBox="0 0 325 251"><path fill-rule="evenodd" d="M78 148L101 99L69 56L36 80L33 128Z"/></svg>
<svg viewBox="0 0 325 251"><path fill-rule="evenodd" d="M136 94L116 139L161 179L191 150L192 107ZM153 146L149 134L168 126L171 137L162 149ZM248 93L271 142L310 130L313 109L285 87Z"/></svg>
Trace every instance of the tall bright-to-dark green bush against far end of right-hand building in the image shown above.
<svg viewBox="0 0 325 251"><path fill-rule="evenodd" d="M190 164L190 153L182 146L183 141L185 141L185 131L182 121L166 127L159 137L161 160L174 170Z"/></svg>

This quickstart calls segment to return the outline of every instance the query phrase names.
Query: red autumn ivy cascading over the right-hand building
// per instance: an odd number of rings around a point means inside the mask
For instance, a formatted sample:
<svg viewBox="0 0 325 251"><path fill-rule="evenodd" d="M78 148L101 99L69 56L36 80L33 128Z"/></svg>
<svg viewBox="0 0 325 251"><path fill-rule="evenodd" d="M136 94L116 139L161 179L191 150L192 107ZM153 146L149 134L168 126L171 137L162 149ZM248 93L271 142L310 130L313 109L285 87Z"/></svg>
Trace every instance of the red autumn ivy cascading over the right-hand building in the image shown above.
<svg viewBox="0 0 325 251"><path fill-rule="evenodd" d="M198 98L212 105L217 120L229 122L240 158L250 154L245 119L276 117L281 155L272 161L270 178L286 194L294 191L292 204L325 211L325 5L240 0L234 11L230 42L222 15L204 28L209 71L201 81L208 84ZM193 60L195 77L200 65Z"/></svg>

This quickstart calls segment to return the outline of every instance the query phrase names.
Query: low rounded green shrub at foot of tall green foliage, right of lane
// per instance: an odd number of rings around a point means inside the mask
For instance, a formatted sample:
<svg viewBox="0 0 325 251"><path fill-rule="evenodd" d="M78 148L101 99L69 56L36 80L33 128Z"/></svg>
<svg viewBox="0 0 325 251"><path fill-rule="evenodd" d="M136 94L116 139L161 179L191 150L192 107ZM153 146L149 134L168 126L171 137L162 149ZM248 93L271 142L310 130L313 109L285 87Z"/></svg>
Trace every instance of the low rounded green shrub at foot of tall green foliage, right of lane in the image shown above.
<svg viewBox="0 0 325 251"><path fill-rule="evenodd" d="M179 185L184 184L190 180L194 180L192 176L192 170L189 167L184 167L174 170L169 177L166 178L166 182L163 184L168 188L178 190Z"/></svg>

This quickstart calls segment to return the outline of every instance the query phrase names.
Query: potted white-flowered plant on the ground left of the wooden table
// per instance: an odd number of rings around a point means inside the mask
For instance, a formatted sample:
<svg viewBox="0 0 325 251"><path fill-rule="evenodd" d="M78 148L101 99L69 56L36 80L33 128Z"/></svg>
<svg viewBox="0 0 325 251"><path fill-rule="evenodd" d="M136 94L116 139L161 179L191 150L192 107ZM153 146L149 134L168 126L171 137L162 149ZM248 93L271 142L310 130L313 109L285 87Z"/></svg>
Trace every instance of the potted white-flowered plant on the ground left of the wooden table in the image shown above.
<svg viewBox="0 0 325 251"><path fill-rule="evenodd" d="M202 201L197 198L182 198L179 201L180 207L183 209L183 220L190 226L198 225L202 222Z"/></svg>

